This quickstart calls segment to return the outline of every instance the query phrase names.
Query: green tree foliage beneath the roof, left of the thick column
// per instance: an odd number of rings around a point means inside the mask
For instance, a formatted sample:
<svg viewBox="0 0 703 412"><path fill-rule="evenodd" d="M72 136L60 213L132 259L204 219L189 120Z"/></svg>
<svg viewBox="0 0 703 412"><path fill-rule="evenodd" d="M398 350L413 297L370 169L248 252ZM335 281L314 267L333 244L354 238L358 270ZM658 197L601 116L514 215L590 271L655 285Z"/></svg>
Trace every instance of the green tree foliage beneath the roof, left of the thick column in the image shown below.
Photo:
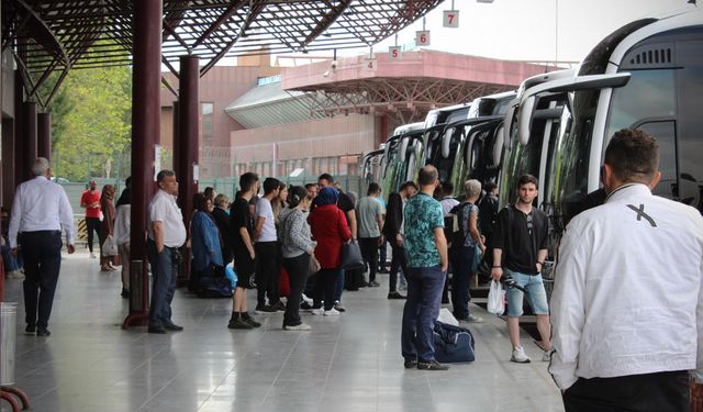
<svg viewBox="0 0 703 412"><path fill-rule="evenodd" d="M132 71L114 66L69 71L48 108L54 174L70 180L126 176L132 133Z"/></svg>

